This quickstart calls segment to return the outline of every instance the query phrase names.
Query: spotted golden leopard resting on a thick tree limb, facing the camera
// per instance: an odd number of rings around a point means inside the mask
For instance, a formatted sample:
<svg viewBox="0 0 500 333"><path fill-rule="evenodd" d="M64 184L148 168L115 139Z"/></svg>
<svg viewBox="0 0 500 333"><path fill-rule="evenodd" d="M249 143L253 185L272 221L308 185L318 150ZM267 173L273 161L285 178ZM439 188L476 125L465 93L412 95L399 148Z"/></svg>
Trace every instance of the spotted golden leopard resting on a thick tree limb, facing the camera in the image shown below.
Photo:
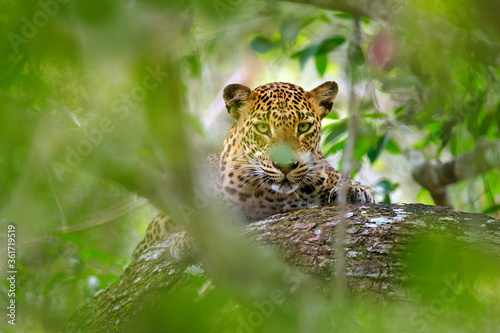
<svg viewBox="0 0 500 333"><path fill-rule="evenodd" d="M254 90L238 83L226 86L222 97L234 123L221 150L207 159L216 197L248 222L338 204L342 186L347 186L348 204L373 203L372 191L342 179L320 149L321 121L338 91L335 81L310 91L286 82ZM177 230L168 215L158 215L133 258Z"/></svg>

